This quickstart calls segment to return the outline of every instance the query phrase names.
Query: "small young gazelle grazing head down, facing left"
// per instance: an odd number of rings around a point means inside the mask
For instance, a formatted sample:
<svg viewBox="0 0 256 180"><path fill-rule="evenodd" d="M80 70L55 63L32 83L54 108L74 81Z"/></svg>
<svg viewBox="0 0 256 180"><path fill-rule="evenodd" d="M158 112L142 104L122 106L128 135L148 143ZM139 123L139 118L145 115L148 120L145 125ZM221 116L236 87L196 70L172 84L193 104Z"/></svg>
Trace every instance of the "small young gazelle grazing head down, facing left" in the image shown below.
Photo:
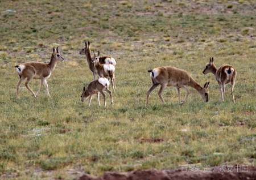
<svg viewBox="0 0 256 180"><path fill-rule="evenodd" d="M90 96L89 98L89 106L90 106L90 101L92 101L92 96L97 94L98 106L101 106L100 104L100 93L101 93L101 95L104 97L104 106L106 107L106 95L104 91L109 93L111 104L113 105L112 91L109 90L109 80L106 78L99 78L99 79L93 80L92 82L90 82L86 90L84 87L84 92L82 92L82 95L81 95L81 98L82 98L81 101L84 102L84 100L86 100L86 98Z"/></svg>

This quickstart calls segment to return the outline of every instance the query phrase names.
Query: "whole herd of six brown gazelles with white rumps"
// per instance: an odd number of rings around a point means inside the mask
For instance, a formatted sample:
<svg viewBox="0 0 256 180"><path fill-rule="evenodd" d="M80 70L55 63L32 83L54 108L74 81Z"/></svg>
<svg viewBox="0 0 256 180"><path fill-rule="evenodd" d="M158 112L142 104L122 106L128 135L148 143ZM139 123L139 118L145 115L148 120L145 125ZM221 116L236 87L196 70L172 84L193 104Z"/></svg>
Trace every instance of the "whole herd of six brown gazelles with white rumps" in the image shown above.
<svg viewBox="0 0 256 180"><path fill-rule="evenodd" d="M49 95L47 79L51 76L52 71L56 67L56 62L64 61L63 57L61 57L59 47L55 49L53 47L52 57L49 63L42 63L42 62L27 62L23 63L19 66L15 66L17 68L17 72L19 75L19 82L17 83L17 98L19 98L19 87L20 84L27 78L25 86L27 87L28 91L32 93L34 97L38 97L39 93L44 86L46 87L47 95ZM88 88L82 92L81 101L84 101L86 98L89 97L89 106L92 100L92 96L97 94L98 105L100 105L100 93L104 97L104 106L106 106L106 95L104 93L108 92L111 98L111 104L113 105L113 97L112 91L109 90L109 80L111 80L113 91L115 91L115 59L110 56L102 56L100 57L100 52L95 54L93 52L93 58L90 52L90 42L88 44L85 42L84 48L82 48L80 55L85 55L86 60L89 65L90 71L93 73L94 80L89 83ZM210 58L209 63L205 67L203 74L208 74L211 72L215 75L218 85L220 86L221 98L224 101L224 92L225 92L225 84L231 82L231 94L234 101L234 84L236 81L236 69L230 65L223 65L217 68L214 65L213 58ZM179 96L179 104L184 104L187 101L189 90L188 86L195 88L197 92L199 92L200 96L203 98L205 102L208 102L208 85L210 82L204 84L204 87L201 87L189 74L188 72L181 70L180 68L166 66L166 67L157 67L153 70L148 70L150 72L150 78L152 80L152 86L147 91L147 100L146 105L148 105L148 100L150 93L160 85L160 89L158 91L158 95L160 100L163 104L166 102L163 100L162 92L164 88L167 86L173 86L177 89L177 94ZM99 79L96 79L96 75L98 75ZM40 79L40 88L38 92L35 93L29 87L29 83L32 79ZM180 88L184 89L187 92L183 102L180 103Z"/></svg>

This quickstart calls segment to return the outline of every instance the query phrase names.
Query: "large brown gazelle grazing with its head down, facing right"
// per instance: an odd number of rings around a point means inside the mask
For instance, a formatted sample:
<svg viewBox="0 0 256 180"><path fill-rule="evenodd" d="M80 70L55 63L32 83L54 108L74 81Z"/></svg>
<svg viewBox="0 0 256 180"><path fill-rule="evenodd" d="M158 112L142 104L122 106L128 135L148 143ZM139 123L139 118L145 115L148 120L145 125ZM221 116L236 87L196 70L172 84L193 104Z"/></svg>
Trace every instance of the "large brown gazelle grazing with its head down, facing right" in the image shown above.
<svg viewBox="0 0 256 180"><path fill-rule="evenodd" d="M152 80L152 86L147 90L147 101L146 106L148 105L148 99L151 91L153 91L158 85L161 85L161 88L158 91L158 95L164 102L162 97L162 92L166 86L174 86L177 89L177 94L179 96L179 104L180 104L180 88L187 91L187 95L185 96L183 102L184 104L187 101L189 90L188 86L195 88L197 92L199 92L200 96L203 98L205 102L208 102L208 85L210 82L205 83L204 87L201 87L189 74L188 72L181 70L180 68L166 66L166 67L157 67L153 70L148 70L150 73L150 78Z"/></svg>

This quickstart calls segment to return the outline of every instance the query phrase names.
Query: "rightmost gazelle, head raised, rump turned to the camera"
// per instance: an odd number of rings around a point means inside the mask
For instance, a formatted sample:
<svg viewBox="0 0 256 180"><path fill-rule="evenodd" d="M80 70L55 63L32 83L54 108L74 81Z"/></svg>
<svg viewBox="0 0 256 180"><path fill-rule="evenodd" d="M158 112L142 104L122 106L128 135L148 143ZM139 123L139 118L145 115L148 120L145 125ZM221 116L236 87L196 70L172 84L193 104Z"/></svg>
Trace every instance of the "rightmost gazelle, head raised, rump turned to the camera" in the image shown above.
<svg viewBox="0 0 256 180"><path fill-rule="evenodd" d="M217 68L214 65L213 58L210 59L209 63L207 63L207 66L205 67L205 70L203 71L203 74L208 74L209 72L212 72L212 74L215 76L218 85L220 86L220 92L221 92L221 98L224 102L224 92L225 92L225 85L231 82L231 95L233 97L234 101L234 84L236 82L236 75L237 71L233 66L230 65L223 65L219 68Z"/></svg>

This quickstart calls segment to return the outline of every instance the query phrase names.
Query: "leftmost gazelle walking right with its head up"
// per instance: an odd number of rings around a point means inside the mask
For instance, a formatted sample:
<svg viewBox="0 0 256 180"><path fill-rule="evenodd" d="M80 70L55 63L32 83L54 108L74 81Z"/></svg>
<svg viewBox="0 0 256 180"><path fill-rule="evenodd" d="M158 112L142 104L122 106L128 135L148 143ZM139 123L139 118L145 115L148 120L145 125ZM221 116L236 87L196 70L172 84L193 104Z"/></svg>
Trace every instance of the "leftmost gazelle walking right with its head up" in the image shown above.
<svg viewBox="0 0 256 180"><path fill-rule="evenodd" d="M19 86L20 84L27 78L25 83L28 91L32 93L34 97L37 97L43 87L46 87L47 95L49 95L47 79L51 76L52 71L55 69L56 62L64 61L63 57L61 57L59 50L59 46L57 49L53 47L51 61L49 63L42 63L42 62L26 62L19 66L15 66L17 68L17 72L19 75L19 82L17 83L17 98L19 98ZM40 88L38 93L35 93L30 89L29 83L32 79L40 79Z"/></svg>

